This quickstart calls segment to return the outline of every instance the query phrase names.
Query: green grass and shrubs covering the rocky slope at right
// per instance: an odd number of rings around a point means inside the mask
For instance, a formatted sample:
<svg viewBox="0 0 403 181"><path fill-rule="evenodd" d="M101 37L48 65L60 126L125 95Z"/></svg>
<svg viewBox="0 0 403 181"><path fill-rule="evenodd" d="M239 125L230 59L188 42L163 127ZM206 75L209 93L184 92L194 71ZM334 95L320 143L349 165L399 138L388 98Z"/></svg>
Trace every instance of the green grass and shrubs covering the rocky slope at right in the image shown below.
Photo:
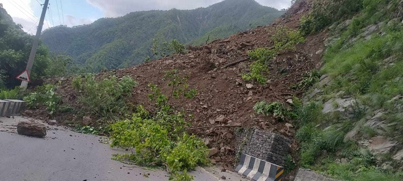
<svg viewBox="0 0 403 181"><path fill-rule="evenodd" d="M403 93L403 7L399 3L400 0L321 0L302 18L301 31L305 34L333 24L330 33L334 41L324 54L321 70L330 77L329 85L315 85L323 92L297 110L300 166L342 180L403 178L402 162L392 159L393 150L379 154L360 143L374 136L400 144L403 141L403 103L399 99ZM335 16L327 16L329 13ZM346 108L351 116L322 113L323 102L335 98L352 99L353 104ZM364 126L375 113L382 113L380 119L390 126L383 127L383 131ZM347 133L356 134L351 138ZM340 162L341 158L345 161Z"/></svg>

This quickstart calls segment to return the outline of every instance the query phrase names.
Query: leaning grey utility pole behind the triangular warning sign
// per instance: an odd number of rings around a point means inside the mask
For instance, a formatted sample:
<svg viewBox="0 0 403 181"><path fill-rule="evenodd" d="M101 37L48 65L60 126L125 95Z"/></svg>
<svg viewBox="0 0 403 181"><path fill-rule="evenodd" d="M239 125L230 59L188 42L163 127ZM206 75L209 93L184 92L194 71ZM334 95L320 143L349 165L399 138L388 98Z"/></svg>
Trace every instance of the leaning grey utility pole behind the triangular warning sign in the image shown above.
<svg viewBox="0 0 403 181"><path fill-rule="evenodd" d="M39 19L38 29L36 30L34 42L32 43L31 53L29 54L29 58L28 58L28 63L27 63L28 75L31 75L32 66L34 65L36 49L38 49L39 37L41 36L41 33L42 33L43 21L45 21L45 15L46 15L46 10L47 10L48 5L49 5L49 0L45 0L45 3L43 4L41 18ZM21 88L26 89L27 86L28 86L28 81L21 82Z"/></svg>

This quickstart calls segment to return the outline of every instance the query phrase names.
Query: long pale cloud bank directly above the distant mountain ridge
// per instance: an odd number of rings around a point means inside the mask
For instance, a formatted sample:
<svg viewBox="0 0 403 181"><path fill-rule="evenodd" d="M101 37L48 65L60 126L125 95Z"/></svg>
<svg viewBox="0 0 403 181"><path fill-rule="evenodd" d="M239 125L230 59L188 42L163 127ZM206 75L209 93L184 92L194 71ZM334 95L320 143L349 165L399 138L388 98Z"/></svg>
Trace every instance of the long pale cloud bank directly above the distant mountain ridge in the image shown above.
<svg viewBox="0 0 403 181"><path fill-rule="evenodd" d="M135 11L148 10L190 10L200 7L208 7L222 0L87 0L89 4L102 10L106 17L123 16ZM277 9L288 8L291 0L257 0L263 6Z"/></svg>

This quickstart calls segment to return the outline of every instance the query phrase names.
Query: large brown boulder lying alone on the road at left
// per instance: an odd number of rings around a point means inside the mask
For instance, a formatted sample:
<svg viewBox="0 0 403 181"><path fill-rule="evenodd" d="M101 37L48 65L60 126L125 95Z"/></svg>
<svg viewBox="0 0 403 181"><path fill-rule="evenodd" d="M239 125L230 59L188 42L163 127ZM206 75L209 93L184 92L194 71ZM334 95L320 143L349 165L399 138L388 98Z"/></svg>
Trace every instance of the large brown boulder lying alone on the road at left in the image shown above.
<svg viewBox="0 0 403 181"><path fill-rule="evenodd" d="M46 136L46 127L35 122L19 122L17 125L17 133L20 135L43 138Z"/></svg>

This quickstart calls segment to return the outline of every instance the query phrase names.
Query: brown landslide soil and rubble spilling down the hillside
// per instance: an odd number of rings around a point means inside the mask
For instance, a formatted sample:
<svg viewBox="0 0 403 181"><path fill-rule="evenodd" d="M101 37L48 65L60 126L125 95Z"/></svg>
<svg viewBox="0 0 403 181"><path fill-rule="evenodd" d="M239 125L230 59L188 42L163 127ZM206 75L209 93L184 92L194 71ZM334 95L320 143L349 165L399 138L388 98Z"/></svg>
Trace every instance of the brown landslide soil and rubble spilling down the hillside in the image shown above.
<svg viewBox="0 0 403 181"><path fill-rule="evenodd" d="M301 97L302 92L296 92L291 86L302 80L302 75L312 69L320 67L320 59L324 48L326 33L308 36L304 44L300 44L296 51L278 55L271 60L270 82L259 85L253 82L245 82L240 74L247 72L250 60L238 63L228 68L220 68L225 65L247 58L247 51L258 47L271 46L270 35L279 25L290 28L298 28L299 19L310 9L310 2L300 1L295 4L288 13L279 18L272 25L258 27L253 30L240 32L236 35L212 43L192 47L186 54L173 55L167 58L143 63L138 66L101 72L97 76L117 75L118 77L129 75L136 79L139 85L133 89L131 103L143 104L152 108L147 95L149 83L160 86L164 93L168 94L170 87L162 80L164 71L177 69L183 75L189 75L188 83L197 89L198 95L193 99L175 99L171 104L177 109L183 109L193 114L190 120L192 127L241 125L242 127L259 127L282 134L293 140L292 145L297 149L294 141L295 128L285 126L290 121L278 121L273 117L256 115L253 106L258 101L284 102L292 96ZM216 68L218 67L218 68ZM77 105L77 97L71 87L71 78L61 80L57 88L63 97L63 102ZM238 83L237 83L238 82ZM253 88L248 89L246 83L252 83ZM47 117L45 111L33 110L31 116ZM226 121L210 124L211 119L225 116ZM71 115L56 115L56 120L63 120ZM231 149L223 149L218 156L212 158L213 162L232 168L235 161L235 128L207 128L192 131L200 137L210 139L210 147L218 149L229 146Z"/></svg>

